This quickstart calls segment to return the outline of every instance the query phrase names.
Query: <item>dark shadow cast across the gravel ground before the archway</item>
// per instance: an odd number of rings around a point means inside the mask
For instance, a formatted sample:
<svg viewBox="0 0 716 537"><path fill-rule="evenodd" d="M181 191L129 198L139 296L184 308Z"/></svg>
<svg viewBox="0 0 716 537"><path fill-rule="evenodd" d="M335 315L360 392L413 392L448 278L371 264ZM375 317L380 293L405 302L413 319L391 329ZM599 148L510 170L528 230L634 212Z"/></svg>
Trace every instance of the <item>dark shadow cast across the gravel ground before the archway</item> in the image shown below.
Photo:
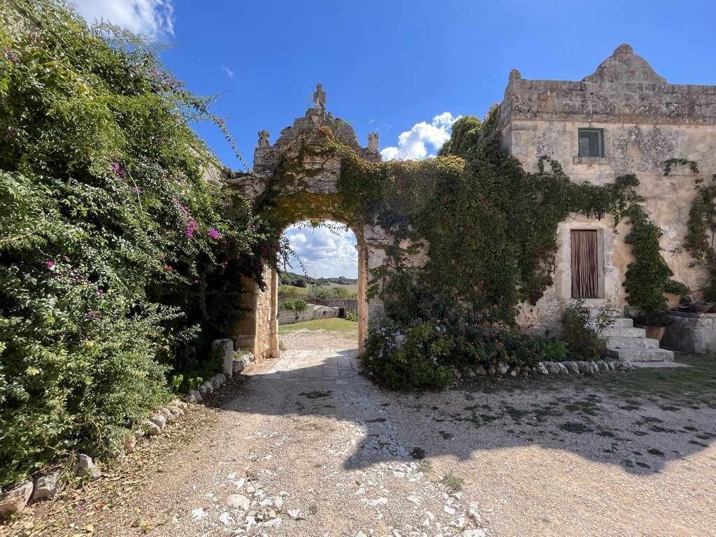
<svg viewBox="0 0 716 537"><path fill-rule="evenodd" d="M468 460L483 450L538 446L646 475L716 439L713 405L648 390L625 393L621 388L632 384L622 386L616 376L629 379L639 371L612 372L615 378L606 382L533 377L445 392L390 392L359 374L354 349L329 354L320 363L296 363L289 352L275 364L259 364L235 390L209 397L208 404L351 422L358 436L344 460L347 469L440 455Z"/></svg>

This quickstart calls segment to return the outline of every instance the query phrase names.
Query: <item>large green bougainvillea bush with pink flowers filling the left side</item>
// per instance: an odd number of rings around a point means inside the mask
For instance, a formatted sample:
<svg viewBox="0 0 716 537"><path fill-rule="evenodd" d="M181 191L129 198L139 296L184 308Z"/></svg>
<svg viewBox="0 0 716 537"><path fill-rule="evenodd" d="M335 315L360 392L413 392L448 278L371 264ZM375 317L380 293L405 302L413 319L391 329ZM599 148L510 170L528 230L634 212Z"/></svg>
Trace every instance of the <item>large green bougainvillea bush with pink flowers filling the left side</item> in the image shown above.
<svg viewBox="0 0 716 537"><path fill-rule="evenodd" d="M276 244L205 183L219 167L188 124L216 119L208 99L146 44L9 0L0 48L2 485L111 454L168 384L211 369L238 279L261 282Z"/></svg>

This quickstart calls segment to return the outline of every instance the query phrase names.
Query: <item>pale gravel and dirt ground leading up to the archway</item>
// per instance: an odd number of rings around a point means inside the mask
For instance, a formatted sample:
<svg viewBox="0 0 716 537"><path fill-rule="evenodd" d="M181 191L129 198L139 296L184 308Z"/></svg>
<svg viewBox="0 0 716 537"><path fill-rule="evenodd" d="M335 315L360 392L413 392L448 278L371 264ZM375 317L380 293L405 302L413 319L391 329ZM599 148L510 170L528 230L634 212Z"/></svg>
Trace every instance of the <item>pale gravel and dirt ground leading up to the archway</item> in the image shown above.
<svg viewBox="0 0 716 537"><path fill-rule="evenodd" d="M596 379L387 392L359 374L354 339L281 339L281 359L0 533L716 534L713 404Z"/></svg>

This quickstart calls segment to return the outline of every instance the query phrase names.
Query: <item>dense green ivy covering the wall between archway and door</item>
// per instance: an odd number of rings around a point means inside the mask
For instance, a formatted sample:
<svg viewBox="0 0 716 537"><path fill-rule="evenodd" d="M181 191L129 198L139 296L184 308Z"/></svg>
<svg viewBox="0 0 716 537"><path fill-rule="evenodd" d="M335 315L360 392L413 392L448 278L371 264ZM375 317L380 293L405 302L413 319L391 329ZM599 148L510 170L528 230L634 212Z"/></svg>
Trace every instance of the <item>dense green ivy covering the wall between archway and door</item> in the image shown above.
<svg viewBox="0 0 716 537"><path fill-rule="evenodd" d="M389 266L372 274L386 282L387 323L370 334L364 353L369 372L391 387L442 386L442 368L451 364L543 358L545 342L516 328L517 306L535 304L553 283L557 227L571 213L601 208L615 227L623 218L632 224L627 240L636 261L625 283L632 304L660 310L665 291L686 289L671 280L635 175L578 185L546 156L537 173L527 173L500 148L496 118L495 108L484 122L461 118L437 158L422 162L366 163L332 142L342 159L344 214L395 238L386 248ZM424 266L411 265L418 252L427 254Z"/></svg>

